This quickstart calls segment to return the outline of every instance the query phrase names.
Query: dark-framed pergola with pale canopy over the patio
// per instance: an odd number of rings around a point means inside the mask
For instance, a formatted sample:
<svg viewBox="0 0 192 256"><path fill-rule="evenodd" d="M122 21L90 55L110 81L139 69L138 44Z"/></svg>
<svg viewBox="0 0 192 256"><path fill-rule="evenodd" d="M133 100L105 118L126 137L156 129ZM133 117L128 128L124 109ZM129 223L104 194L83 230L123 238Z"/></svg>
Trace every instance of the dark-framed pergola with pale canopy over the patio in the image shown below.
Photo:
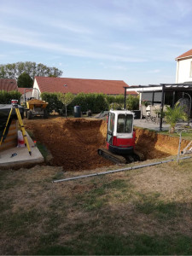
<svg viewBox="0 0 192 256"><path fill-rule="evenodd" d="M125 88L125 101L126 101L126 92L135 90L139 93L139 104L143 100L146 100L154 105L154 103L159 103L161 106L161 111L163 111L164 105L170 105L172 108L179 98L184 96L189 97L190 101L190 112L191 111L191 99L192 99L192 82L185 82L182 84L149 84L149 85L138 85L138 86L129 86ZM125 107L124 102L124 108ZM162 117L160 117L160 131L162 130Z"/></svg>

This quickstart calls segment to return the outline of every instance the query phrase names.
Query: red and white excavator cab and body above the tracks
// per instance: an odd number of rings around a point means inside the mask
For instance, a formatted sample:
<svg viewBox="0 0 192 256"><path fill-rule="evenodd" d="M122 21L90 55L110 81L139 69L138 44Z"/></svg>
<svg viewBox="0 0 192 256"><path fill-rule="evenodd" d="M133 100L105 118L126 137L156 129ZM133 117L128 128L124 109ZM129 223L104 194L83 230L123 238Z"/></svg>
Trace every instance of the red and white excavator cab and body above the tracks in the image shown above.
<svg viewBox="0 0 192 256"><path fill-rule="evenodd" d="M133 131L134 113L110 110L108 113L107 148L113 154L132 154L136 134Z"/></svg>

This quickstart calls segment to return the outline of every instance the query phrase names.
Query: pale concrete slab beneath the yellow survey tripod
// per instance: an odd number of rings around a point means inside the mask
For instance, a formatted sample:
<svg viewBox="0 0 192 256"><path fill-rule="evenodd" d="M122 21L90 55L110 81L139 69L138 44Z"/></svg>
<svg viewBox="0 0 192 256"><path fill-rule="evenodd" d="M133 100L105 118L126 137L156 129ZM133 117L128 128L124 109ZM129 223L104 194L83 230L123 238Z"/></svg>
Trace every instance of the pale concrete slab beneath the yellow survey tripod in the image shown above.
<svg viewBox="0 0 192 256"><path fill-rule="evenodd" d="M22 166L35 166L44 162L44 157L40 153L37 147L34 147L32 138L26 133L26 137L32 152L29 154L28 149L25 148L9 148L4 151L0 151L0 169L19 168ZM12 156L15 154L15 156Z"/></svg>

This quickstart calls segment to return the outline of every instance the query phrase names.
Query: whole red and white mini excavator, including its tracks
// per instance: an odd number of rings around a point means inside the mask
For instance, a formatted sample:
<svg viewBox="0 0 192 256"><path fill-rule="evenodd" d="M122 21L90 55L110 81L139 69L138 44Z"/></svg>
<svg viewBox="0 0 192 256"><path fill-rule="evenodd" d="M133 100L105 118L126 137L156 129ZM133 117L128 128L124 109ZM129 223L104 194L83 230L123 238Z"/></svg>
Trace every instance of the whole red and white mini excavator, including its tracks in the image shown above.
<svg viewBox="0 0 192 256"><path fill-rule="evenodd" d="M116 164L144 160L136 152L136 132L133 130L134 113L129 110L110 110L108 113L107 148L99 148L98 154Z"/></svg>

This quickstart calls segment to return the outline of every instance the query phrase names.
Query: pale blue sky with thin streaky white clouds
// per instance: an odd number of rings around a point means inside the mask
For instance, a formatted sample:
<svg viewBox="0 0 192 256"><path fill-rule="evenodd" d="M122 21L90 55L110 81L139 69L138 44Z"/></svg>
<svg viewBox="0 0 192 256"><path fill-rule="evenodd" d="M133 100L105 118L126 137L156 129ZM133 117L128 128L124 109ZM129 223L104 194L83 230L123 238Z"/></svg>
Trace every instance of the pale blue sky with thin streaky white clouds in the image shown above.
<svg viewBox="0 0 192 256"><path fill-rule="evenodd" d="M192 0L0 0L0 64L35 61L62 77L175 83L192 49Z"/></svg>

